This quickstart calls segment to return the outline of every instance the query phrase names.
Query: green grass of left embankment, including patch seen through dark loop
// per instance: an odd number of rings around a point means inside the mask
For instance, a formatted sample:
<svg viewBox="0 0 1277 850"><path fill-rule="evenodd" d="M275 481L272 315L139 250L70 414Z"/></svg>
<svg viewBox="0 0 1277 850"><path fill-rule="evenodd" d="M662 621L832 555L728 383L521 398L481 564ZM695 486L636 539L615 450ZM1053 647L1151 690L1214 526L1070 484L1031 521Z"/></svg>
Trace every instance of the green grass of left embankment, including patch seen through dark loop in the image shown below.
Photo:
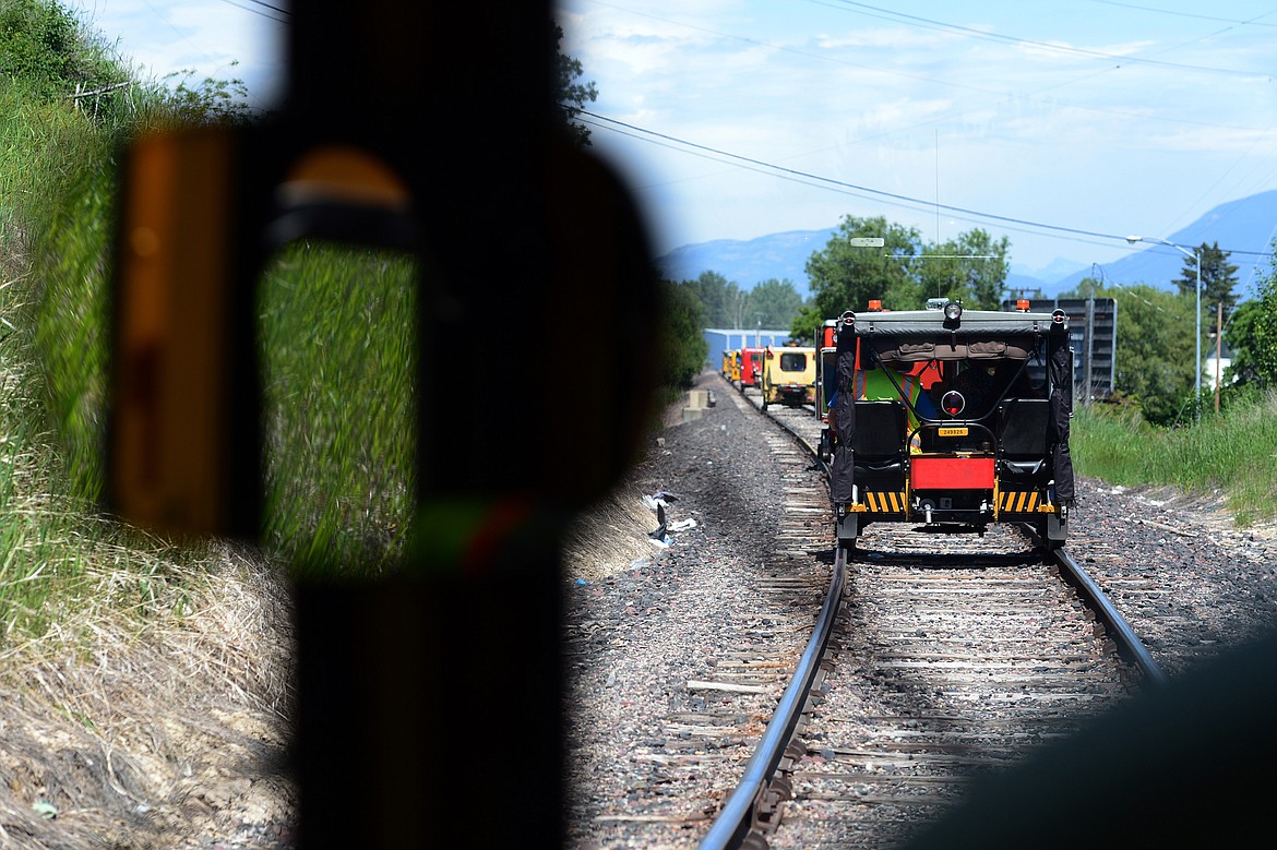
<svg viewBox="0 0 1277 850"><path fill-rule="evenodd" d="M144 110L143 110L144 112ZM181 618L216 559L103 516L117 145L69 102L0 89L0 650L68 623ZM397 554L411 511L409 260L290 245L259 278L266 551L306 569ZM88 639L86 637L86 639Z"/></svg>

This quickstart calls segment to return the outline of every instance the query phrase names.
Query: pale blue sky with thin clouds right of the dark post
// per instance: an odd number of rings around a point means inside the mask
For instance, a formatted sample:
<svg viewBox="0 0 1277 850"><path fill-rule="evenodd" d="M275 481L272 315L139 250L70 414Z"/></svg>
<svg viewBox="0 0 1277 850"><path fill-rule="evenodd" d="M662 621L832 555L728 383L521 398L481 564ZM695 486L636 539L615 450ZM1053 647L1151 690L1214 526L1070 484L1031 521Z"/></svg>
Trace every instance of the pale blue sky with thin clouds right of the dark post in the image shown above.
<svg viewBox="0 0 1277 850"><path fill-rule="evenodd" d="M1277 189L1277 3L564 0L558 18L598 86L595 149L659 253L882 214L928 240L1006 235L1031 269L1088 265Z"/></svg>

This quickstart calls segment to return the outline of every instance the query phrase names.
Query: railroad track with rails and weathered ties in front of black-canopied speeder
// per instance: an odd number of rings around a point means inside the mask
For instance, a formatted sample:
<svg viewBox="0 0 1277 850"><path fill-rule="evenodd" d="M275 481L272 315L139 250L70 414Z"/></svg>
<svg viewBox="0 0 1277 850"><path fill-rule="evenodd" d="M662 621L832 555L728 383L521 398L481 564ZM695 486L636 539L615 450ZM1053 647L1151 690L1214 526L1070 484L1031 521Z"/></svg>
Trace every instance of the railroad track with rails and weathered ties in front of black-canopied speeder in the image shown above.
<svg viewBox="0 0 1277 850"><path fill-rule="evenodd" d="M816 444L810 408L769 415ZM971 779L1075 731L1139 682L1161 684L1112 605L1057 555L1011 526L871 526L838 555L829 599L842 604L826 605L831 630L817 622L810 669L769 725L774 752L760 747L701 847L896 846Z"/></svg>

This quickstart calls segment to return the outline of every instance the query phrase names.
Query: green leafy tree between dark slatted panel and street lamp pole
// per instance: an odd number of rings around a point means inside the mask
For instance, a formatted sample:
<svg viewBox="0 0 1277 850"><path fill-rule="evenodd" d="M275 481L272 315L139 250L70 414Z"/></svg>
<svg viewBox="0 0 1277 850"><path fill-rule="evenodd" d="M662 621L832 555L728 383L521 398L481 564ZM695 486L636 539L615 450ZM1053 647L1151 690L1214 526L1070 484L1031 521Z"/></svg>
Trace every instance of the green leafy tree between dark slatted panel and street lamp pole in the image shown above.
<svg viewBox="0 0 1277 850"><path fill-rule="evenodd" d="M1137 401L1154 424L1184 419L1193 402L1194 299L1147 285L1099 290L1116 297L1119 324L1114 391Z"/></svg>

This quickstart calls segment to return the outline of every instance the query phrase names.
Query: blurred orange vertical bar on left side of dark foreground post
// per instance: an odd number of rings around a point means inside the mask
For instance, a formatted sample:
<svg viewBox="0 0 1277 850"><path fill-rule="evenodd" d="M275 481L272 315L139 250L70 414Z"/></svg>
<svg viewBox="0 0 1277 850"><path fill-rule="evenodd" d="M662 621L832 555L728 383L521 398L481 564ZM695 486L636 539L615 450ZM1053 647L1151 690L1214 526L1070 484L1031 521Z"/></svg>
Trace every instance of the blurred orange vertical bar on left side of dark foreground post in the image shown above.
<svg viewBox="0 0 1277 850"><path fill-rule="evenodd" d="M152 528L225 532L232 139L152 137L128 156L110 499Z"/></svg>

